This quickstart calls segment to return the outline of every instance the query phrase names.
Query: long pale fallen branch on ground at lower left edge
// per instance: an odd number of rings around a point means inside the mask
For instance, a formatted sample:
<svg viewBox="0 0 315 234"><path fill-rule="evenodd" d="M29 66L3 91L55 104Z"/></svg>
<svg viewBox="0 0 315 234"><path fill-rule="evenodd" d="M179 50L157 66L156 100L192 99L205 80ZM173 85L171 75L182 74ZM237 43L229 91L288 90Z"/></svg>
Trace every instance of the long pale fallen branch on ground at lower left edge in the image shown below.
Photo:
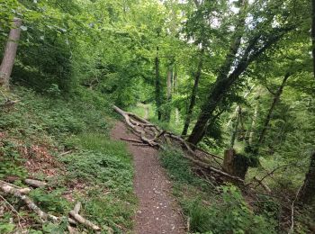
<svg viewBox="0 0 315 234"><path fill-rule="evenodd" d="M27 207L31 211L34 211L40 217L40 220L42 221L52 220L53 222L58 221L58 217L51 215L49 213L46 213L44 211L41 211L40 208L34 202L32 202L28 196L24 195L23 193L20 193L20 191L14 188L13 186L0 182L0 189L6 194L14 195L15 197L18 197L21 200L23 200L23 202L25 202Z"/></svg>

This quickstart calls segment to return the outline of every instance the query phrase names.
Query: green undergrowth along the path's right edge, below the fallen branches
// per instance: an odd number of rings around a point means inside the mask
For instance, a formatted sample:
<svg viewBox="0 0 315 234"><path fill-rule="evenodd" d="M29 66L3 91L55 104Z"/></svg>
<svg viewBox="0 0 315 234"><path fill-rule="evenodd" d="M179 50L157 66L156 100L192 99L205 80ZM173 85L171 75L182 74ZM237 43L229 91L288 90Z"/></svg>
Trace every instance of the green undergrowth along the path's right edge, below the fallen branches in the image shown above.
<svg viewBox="0 0 315 234"><path fill-rule="evenodd" d="M275 221L253 211L236 186L224 184L215 193L178 149L168 148L160 157L192 233L275 233Z"/></svg>

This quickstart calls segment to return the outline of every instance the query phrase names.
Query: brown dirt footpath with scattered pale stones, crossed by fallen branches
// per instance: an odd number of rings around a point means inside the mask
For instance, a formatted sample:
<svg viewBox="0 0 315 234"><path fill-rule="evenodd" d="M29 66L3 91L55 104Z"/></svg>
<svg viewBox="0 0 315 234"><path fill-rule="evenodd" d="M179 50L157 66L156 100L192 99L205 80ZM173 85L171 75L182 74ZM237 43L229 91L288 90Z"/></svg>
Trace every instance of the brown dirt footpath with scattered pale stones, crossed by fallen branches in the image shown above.
<svg viewBox="0 0 315 234"><path fill-rule="evenodd" d="M122 122L112 129L112 139L138 139ZM139 199L136 234L185 233L180 209L170 194L171 184L157 159L157 150L128 143L135 167L134 188Z"/></svg>

